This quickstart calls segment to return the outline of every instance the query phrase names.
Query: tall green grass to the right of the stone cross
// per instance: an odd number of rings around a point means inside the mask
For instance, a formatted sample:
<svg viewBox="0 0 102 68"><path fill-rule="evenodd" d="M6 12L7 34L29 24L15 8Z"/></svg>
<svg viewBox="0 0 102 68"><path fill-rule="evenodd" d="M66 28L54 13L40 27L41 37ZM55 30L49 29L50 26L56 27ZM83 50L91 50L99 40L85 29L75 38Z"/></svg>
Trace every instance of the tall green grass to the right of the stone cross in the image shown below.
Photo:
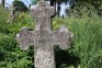
<svg viewBox="0 0 102 68"><path fill-rule="evenodd" d="M86 13L84 13L86 14ZM54 19L54 29L57 30L61 24L66 24L71 32L73 32L73 42L69 50L69 56L76 56L75 58L60 57L58 65L63 67L58 68L102 68L102 18L93 15L92 18L66 18ZM58 53L59 50L57 50ZM64 53L59 54L60 56ZM57 56L57 58L59 57ZM69 59L68 59L69 58ZM70 64L71 60L77 60L76 64ZM65 63L60 64L60 61ZM68 60L68 63L66 61ZM65 65L65 66L64 66Z"/></svg>

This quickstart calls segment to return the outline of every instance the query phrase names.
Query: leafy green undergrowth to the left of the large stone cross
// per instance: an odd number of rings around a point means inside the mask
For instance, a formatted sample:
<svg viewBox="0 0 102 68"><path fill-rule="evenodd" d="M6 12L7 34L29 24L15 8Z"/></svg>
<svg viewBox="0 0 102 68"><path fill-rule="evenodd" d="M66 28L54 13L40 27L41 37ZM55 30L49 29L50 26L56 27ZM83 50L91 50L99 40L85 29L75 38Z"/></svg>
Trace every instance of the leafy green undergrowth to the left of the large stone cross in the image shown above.
<svg viewBox="0 0 102 68"><path fill-rule="evenodd" d="M10 22L9 12L0 7L0 68L32 68L33 48L22 52L15 42L22 26L33 27L32 21L27 13L21 13Z"/></svg>

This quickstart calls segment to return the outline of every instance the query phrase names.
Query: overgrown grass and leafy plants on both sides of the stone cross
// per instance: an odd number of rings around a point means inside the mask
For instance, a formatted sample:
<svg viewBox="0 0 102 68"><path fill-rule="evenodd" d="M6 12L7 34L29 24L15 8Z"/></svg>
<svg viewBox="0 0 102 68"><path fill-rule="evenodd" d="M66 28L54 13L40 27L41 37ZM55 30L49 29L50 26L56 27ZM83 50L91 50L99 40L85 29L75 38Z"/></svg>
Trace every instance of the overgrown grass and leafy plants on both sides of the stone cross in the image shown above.
<svg viewBox="0 0 102 68"><path fill-rule="evenodd" d="M92 12L88 16L83 9L81 18L75 13L70 18L53 19L53 30L56 31L61 24L66 24L73 33L70 48L61 50L55 47L57 68L102 68L102 18ZM15 35L22 26L34 30L35 22L29 14L16 14L10 22L9 11L0 7L0 68L33 68L33 46L26 52L21 50L15 42Z"/></svg>

